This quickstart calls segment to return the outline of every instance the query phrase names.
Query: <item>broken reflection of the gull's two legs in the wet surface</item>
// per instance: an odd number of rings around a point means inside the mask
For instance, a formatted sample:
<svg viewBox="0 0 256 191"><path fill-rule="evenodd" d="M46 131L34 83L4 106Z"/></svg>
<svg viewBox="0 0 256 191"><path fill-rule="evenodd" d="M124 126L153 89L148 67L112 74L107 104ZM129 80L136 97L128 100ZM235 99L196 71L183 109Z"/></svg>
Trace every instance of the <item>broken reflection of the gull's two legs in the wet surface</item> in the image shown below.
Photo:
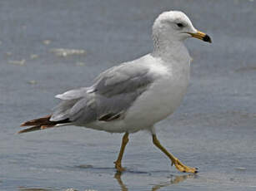
<svg viewBox="0 0 256 191"><path fill-rule="evenodd" d="M126 187L126 185L123 184L121 176L122 176L122 173L116 173L114 175L114 178L118 180L118 184L121 187L122 191L128 191L128 188ZM185 179L194 179L194 178L196 178L196 176L197 176L196 174L186 174L186 175L172 176L172 178L168 182L153 185L151 190L155 191L155 190L161 189L163 187L167 187L167 186L172 185L172 184L178 184L178 183L183 182Z"/></svg>

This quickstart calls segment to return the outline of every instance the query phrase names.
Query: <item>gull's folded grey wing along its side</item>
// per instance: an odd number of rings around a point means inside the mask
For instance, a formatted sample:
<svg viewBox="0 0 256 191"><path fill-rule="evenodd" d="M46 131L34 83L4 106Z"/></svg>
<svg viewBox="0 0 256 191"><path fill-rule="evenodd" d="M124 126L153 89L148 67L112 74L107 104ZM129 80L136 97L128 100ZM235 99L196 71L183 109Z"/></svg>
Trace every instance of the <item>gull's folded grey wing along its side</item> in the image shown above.
<svg viewBox="0 0 256 191"><path fill-rule="evenodd" d="M147 66L129 62L101 73L91 87L67 91L51 120L69 119L85 125L94 120L116 120L153 82Z"/></svg>

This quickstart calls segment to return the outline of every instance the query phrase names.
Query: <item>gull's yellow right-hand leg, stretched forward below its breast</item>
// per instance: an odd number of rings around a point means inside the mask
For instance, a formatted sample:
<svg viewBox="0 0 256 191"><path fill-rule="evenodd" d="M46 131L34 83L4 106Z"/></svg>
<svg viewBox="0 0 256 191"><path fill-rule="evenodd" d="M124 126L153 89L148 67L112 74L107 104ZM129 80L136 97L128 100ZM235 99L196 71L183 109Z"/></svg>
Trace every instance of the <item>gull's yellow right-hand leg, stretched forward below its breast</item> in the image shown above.
<svg viewBox="0 0 256 191"><path fill-rule="evenodd" d="M173 156L173 154L170 154L159 142L158 138L156 135L152 135L153 138L153 144L155 144L158 149L161 149L163 151L164 154L166 154L168 156L169 159L172 160L172 165L174 164L175 167L183 173L197 173L197 169L196 168L192 168L189 166L186 166L184 164L182 164L176 157Z"/></svg>

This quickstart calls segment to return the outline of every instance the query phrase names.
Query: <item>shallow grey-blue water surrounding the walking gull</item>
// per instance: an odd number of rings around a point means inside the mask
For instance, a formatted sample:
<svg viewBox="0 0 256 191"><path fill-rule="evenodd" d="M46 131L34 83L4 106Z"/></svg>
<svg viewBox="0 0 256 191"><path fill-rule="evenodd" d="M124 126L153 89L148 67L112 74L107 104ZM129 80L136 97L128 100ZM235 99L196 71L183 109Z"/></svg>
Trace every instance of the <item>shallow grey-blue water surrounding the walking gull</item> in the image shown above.
<svg viewBox="0 0 256 191"><path fill-rule="evenodd" d="M255 190L256 2L0 2L0 190ZM68 126L15 135L46 115L53 96L88 86L100 71L152 50L154 18L186 12L213 44L189 40L191 83L183 105L157 125L158 138L199 173L181 174L147 132L130 137ZM58 56L51 50L80 50ZM70 51L68 51L70 52Z"/></svg>

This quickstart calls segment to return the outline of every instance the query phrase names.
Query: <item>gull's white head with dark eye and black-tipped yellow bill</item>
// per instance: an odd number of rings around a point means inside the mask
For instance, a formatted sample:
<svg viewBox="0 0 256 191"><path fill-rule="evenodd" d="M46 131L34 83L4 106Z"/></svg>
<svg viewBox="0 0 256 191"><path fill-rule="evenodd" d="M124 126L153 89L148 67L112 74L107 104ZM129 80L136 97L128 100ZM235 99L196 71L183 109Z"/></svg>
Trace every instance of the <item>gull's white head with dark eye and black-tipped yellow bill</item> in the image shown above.
<svg viewBox="0 0 256 191"><path fill-rule="evenodd" d="M195 37L204 42L212 42L211 38L193 27L192 22L183 13L178 11L163 12L153 23L153 37L160 41L184 41Z"/></svg>

